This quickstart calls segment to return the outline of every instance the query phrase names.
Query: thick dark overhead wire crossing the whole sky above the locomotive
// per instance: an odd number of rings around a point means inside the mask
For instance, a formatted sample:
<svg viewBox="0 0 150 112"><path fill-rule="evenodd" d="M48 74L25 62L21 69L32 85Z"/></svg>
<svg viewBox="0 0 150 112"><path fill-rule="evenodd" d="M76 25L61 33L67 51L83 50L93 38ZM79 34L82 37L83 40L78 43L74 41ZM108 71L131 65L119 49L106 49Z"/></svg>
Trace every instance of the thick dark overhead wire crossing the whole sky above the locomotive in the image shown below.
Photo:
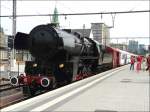
<svg viewBox="0 0 150 112"><path fill-rule="evenodd" d="M127 14L127 13L145 13L145 12L150 12L150 10L118 11L118 12L96 12L96 13L60 13L60 14L58 14L58 16ZM53 14L16 15L16 17L31 17L31 16L53 16ZM13 17L13 16L12 15L1 15L0 17Z"/></svg>

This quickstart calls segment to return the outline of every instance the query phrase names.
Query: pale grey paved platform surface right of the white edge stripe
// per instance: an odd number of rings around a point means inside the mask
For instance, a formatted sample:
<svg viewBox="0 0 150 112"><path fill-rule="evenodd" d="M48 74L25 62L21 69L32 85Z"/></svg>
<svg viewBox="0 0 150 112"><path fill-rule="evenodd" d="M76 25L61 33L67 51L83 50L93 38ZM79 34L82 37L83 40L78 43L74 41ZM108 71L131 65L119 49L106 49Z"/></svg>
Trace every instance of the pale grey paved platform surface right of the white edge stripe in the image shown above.
<svg viewBox="0 0 150 112"><path fill-rule="evenodd" d="M53 111L149 112L149 84L148 72L130 71L127 66L95 87L53 107Z"/></svg>

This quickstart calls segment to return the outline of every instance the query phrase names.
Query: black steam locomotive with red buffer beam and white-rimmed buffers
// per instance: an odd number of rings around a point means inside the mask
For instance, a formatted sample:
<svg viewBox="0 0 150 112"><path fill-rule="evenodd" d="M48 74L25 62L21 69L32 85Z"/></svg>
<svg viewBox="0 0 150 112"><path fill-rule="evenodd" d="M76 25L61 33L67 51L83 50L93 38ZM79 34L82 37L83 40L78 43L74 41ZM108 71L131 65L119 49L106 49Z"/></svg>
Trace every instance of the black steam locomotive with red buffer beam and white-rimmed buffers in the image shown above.
<svg viewBox="0 0 150 112"><path fill-rule="evenodd" d="M12 84L26 85L23 91L31 95L93 75L104 53L95 40L51 24L39 25L29 34L18 32L14 46L33 56L26 61L26 75L11 78Z"/></svg>

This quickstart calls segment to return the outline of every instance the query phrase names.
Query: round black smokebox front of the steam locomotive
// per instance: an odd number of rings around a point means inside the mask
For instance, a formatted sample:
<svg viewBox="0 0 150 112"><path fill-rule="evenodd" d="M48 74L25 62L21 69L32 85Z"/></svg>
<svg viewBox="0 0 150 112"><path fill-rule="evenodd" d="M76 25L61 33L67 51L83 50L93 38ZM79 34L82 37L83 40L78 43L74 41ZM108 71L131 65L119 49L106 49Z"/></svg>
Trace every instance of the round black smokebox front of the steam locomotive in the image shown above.
<svg viewBox="0 0 150 112"><path fill-rule="evenodd" d="M54 28L49 25L35 27L29 34L30 52L33 56L52 58L59 48L59 36Z"/></svg>

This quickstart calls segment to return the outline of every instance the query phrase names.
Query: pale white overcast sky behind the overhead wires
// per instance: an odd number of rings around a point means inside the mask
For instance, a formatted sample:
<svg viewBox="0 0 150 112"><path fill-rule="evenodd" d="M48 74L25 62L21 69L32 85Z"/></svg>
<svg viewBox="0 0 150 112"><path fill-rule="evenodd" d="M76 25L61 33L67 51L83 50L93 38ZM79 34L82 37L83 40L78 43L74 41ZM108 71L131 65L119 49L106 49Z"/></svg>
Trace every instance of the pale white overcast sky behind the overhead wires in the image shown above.
<svg viewBox="0 0 150 112"><path fill-rule="evenodd" d="M57 6L59 13L84 13L84 12L107 12L107 11L134 11L149 10L149 1L17 1L17 14L52 14ZM1 15L12 14L12 1L1 0ZM115 26L110 29L111 37L149 37L149 13L117 14ZM18 17L17 31L29 33L39 25L50 22L50 17ZM111 15L91 16L64 16L59 17L62 28L86 28L91 23L105 22L112 25ZM12 19L1 18L1 26L6 34L12 34ZM149 44L149 40L142 41Z"/></svg>

